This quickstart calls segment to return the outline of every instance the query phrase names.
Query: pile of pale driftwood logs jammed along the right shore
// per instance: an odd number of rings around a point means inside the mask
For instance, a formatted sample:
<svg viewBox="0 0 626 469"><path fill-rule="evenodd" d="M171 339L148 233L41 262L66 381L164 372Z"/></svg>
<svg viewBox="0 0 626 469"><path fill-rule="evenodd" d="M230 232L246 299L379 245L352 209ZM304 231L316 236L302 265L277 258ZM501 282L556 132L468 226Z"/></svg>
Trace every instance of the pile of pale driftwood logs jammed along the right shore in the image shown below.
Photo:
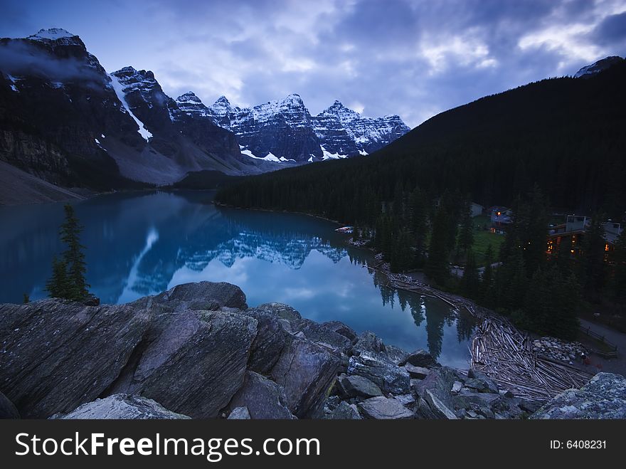
<svg viewBox="0 0 626 469"><path fill-rule="evenodd" d="M548 401L571 388L580 388L592 377L566 363L540 357L527 334L505 317L479 307L467 298L451 295L406 275L393 274L381 260L368 268L384 273L388 287L436 297L455 310L467 310L479 322L470 352L470 367L494 379L502 389L529 401Z"/></svg>

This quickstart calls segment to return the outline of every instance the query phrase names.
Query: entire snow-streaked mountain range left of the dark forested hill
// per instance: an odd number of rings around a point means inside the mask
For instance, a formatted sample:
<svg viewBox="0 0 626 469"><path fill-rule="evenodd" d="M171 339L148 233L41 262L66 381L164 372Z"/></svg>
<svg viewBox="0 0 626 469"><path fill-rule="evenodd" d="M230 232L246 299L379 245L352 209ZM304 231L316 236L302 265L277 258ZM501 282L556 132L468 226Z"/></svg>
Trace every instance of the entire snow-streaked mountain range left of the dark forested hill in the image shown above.
<svg viewBox="0 0 626 469"><path fill-rule="evenodd" d="M207 107L191 91L174 100L151 71L107 73L59 28L0 39L0 204L361 156L409 130L339 101L312 116L296 94L251 108Z"/></svg>

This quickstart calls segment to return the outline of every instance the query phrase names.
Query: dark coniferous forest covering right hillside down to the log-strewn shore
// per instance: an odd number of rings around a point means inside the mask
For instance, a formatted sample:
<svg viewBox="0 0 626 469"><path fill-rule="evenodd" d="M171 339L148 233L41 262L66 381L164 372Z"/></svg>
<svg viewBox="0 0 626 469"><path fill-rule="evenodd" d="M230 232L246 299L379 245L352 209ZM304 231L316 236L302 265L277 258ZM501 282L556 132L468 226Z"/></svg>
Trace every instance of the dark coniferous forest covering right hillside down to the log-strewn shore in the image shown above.
<svg viewBox="0 0 626 469"><path fill-rule="evenodd" d="M243 179L216 202L353 224L391 270L423 269L521 327L572 339L580 307L625 302L625 236L606 255L602 227L625 218L623 83L624 63L593 78L531 83L442 112L366 158ZM514 212L482 271L471 202ZM594 215L580 255L546 254L555 212ZM452 262L465 265L461 278Z"/></svg>

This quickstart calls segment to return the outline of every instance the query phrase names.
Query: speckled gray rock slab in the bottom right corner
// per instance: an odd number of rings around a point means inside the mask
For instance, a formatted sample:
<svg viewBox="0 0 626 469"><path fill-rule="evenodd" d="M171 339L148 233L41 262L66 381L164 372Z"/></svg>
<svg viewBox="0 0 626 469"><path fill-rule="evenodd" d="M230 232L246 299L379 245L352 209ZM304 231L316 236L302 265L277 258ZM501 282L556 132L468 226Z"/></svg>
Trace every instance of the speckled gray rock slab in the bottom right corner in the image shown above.
<svg viewBox="0 0 626 469"><path fill-rule="evenodd" d="M626 418L626 378L598 373L581 389L568 389L530 418Z"/></svg>

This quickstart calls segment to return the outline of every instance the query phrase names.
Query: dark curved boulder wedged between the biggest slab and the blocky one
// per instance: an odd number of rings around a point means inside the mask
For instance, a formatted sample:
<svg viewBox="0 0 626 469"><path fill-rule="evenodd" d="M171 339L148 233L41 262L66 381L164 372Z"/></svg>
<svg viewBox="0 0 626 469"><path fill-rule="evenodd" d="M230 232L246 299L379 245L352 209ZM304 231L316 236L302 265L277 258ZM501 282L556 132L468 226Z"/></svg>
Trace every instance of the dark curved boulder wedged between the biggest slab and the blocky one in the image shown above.
<svg viewBox="0 0 626 469"><path fill-rule="evenodd" d="M285 330L277 315L267 309L250 308L243 314L258 321L257 334L250 349L248 369L267 374L285 347Z"/></svg>

